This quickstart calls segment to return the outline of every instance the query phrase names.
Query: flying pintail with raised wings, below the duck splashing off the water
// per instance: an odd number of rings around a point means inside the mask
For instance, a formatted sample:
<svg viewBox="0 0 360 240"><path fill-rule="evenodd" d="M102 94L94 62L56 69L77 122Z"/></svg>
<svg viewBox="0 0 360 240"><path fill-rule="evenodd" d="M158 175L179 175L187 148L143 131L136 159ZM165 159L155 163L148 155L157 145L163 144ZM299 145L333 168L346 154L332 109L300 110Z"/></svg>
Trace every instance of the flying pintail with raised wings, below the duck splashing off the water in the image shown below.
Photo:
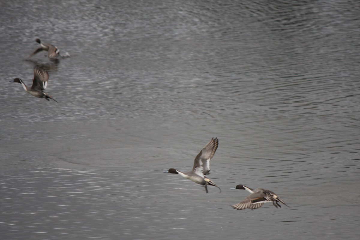
<svg viewBox="0 0 360 240"><path fill-rule="evenodd" d="M13 81L9 81L9 82L21 83L25 91L27 91L28 93L30 93L31 95L37 98L45 98L48 101L49 98L53 99L52 96L50 96L46 92L43 92L43 90L46 89L46 86L48 86L49 73L46 72L44 69L38 67L34 67L33 71L34 71L34 77L32 78L31 87L27 87L20 78L14 78ZM58 103L57 100L55 99L53 100Z"/></svg>

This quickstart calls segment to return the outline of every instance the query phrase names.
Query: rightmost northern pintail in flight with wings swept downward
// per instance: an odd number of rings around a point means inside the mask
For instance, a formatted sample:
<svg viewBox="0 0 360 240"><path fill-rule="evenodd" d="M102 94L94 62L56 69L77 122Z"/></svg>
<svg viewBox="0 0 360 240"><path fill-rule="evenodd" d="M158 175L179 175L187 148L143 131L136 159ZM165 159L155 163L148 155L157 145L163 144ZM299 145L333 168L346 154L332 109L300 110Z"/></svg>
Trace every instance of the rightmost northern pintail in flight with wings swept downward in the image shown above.
<svg viewBox="0 0 360 240"><path fill-rule="evenodd" d="M236 187L233 187L231 189L244 189L251 193L249 196L247 196L245 198L244 201L232 206L233 208L235 208L237 210L242 210L242 209L247 209L247 208L257 209L257 208L260 208L262 205L264 205L264 203L267 203L270 201L273 202L273 205L276 208L278 208L278 206L281 208L281 206L278 202L285 204L285 202L281 198L279 198L279 196L276 195L274 192L263 189L263 188L251 189L247 186L239 184ZM286 206L289 207L288 205L286 205Z"/></svg>

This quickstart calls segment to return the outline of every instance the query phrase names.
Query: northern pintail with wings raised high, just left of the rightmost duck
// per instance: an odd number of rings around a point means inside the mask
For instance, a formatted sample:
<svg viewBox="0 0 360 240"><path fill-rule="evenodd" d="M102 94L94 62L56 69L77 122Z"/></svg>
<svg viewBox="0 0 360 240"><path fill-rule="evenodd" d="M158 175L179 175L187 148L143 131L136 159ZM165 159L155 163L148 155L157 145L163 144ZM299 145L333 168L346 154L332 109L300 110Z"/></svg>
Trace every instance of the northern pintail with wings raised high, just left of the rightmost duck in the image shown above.
<svg viewBox="0 0 360 240"><path fill-rule="evenodd" d="M207 185L215 186L220 189L215 183L213 183L209 178L204 175L210 174L210 160L215 154L217 146L219 145L219 140L217 138L212 138L208 144L200 151L200 153L195 157L194 167L189 172L180 172L174 168L170 168L169 173L179 174L184 178L188 178L197 184L205 186L206 193L208 193ZM221 193L221 189L220 189Z"/></svg>

